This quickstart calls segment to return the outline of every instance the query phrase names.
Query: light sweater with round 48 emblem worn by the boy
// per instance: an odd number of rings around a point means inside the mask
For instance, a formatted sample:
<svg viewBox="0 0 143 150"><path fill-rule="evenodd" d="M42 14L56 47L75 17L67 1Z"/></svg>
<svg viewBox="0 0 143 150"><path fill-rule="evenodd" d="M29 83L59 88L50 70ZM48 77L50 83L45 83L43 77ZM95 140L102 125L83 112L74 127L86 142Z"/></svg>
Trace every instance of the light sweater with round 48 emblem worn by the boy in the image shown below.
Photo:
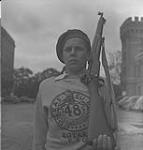
<svg viewBox="0 0 143 150"><path fill-rule="evenodd" d="M80 78L60 75L44 80L36 100L33 150L81 147L87 141L89 105L88 89Z"/></svg>

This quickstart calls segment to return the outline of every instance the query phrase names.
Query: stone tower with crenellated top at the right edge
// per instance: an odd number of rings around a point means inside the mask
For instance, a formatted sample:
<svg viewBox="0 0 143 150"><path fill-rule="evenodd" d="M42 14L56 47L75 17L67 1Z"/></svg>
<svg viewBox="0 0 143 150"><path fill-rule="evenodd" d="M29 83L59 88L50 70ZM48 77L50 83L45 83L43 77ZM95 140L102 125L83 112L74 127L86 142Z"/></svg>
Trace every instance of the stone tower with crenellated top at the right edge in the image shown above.
<svg viewBox="0 0 143 150"><path fill-rule="evenodd" d="M143 17L128 18L120 27L122 42L122 90L128 96L143 95Z"/></svg>

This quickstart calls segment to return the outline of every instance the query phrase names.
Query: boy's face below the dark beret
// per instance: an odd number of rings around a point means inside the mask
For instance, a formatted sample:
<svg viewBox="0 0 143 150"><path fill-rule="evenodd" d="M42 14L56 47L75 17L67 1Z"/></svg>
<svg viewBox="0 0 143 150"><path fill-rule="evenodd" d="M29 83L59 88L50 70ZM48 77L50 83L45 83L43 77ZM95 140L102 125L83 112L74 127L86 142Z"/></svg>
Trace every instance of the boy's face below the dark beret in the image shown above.
<svg viewBox="0 0 143 150"><path fill-rule="evenodd" d="M63 47L63 61L71 71L81 71L85 69L89 58L89 50L86 43L80 38L68 39Z"/></svg>

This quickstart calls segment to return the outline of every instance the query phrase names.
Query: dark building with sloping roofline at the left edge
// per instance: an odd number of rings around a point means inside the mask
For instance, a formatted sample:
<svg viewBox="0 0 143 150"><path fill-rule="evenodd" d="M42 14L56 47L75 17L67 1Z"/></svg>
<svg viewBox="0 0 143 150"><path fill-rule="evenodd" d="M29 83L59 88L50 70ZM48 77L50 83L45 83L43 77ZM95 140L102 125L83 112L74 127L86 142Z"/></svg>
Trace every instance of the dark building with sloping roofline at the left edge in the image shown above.
<svg viewBox="0 0 143 150"><path fill-rule="evenodd" d="M1 94L9 95L12 89L15 42L1 27Z"/></svg>

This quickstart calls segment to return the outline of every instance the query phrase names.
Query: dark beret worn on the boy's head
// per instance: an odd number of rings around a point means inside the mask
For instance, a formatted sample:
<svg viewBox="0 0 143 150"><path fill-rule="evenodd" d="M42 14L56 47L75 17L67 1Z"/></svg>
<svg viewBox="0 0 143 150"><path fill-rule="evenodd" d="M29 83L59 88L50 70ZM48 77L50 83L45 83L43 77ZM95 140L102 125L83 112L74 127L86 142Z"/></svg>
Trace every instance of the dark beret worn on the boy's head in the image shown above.
<svg viewBox="0 0 143 150"><path fill-rule="evenodd" d="M65 42L70 38L81 38L82 40L85 41L88 50L89 51L91 50L90 40L83 31L78 30L78 29L68 30L59 37L57 44L56 44L56 53L57 53L58 59L62 63L64 63L63 56L62 56L63 47L64 47Z"/></svg>

